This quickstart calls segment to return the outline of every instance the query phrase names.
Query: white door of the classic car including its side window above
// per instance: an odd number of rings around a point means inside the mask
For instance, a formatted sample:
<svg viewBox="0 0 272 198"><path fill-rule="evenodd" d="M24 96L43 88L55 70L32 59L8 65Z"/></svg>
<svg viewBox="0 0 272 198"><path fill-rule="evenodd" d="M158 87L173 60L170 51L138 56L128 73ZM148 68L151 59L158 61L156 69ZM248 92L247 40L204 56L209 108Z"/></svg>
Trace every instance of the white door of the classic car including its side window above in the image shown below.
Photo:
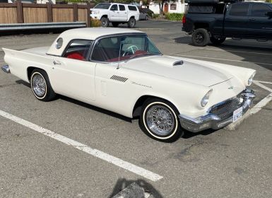
<svg viewBox="0 0 272 198"><path fill-rule="evenodd" d="M93 41L73 40L62 57L54 57L50 81L54 91L77 100L95 100L95 66L88 62Z"/></svg>

